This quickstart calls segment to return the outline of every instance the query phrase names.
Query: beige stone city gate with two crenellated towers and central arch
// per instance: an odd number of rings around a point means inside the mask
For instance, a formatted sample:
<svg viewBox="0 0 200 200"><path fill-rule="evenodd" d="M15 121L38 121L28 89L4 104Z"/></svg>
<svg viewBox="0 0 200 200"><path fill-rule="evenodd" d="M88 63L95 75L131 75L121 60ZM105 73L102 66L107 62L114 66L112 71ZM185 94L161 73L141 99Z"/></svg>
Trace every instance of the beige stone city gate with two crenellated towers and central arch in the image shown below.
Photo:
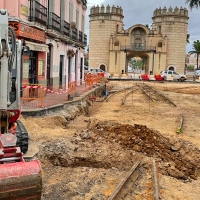
<svg viewBox="0 0 200 200"><path fill-rule="evenodd" d="M128 72L128 62L140 57L147 74L165 69L184 73L188 26L185 8L156 9L151 28L135 24L124 30L123 10L116 6L93 6L89 17L89 67L123 74Z"/></svg>

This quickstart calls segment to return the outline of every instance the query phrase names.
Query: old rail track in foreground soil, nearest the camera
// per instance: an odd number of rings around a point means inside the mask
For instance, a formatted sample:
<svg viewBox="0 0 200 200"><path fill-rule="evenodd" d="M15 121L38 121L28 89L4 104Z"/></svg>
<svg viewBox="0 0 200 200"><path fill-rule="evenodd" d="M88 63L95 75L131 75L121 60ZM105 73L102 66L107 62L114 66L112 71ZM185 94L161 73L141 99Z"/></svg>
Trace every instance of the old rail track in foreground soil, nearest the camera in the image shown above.
<svg viewBox="0 0 200 200"><path fill-rule="evenodd" d="M154 199L159 200L159 185L155 160L150 170L145 169L143 160L137 160L125 174L108 200ZM143 188L145 187L145 189ZM138 188L140 188L138 190ZM143 192L139 192L143 188Z"/></svg>

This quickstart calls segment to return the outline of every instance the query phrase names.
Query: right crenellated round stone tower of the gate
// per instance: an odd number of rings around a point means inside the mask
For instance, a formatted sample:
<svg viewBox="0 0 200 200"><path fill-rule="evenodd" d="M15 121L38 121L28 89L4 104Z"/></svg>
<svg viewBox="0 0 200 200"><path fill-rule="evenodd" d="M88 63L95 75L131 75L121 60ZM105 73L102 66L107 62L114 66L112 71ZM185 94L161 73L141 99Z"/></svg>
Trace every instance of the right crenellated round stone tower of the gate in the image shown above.
<svg viewBox="0 0 200 200"><path fill-rule="evenodd" d="M184 73L185 50L188 27L186 8L157 8L153 13L152 30L167 38L166 67L174 66L176 71Z"/></svg>

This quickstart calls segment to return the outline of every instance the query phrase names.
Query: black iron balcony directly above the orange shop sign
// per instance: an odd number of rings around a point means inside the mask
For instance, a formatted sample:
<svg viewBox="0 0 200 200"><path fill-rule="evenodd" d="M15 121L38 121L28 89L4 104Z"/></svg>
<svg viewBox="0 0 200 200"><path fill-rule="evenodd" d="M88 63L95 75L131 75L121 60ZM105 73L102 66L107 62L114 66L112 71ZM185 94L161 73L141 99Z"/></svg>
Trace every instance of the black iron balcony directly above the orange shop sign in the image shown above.
<svg viewBox="0 0 200 200"><path fill-rule="evenodd" d="M30 1L29 21L38 22L44 26L47 24L47 8L35 0Z"/></svg>

